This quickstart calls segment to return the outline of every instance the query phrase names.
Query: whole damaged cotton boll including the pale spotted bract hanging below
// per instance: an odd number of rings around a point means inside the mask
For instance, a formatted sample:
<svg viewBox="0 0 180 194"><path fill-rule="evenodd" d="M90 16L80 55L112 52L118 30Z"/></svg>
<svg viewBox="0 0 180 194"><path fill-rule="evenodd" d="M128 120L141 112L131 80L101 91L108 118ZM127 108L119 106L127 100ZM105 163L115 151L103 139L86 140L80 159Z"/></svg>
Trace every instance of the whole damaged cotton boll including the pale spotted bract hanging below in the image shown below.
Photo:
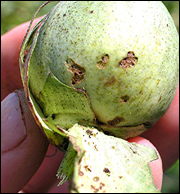
<svg viewBox="0 0 180 194"><path fill-rule="evenodd" d="M36 122L66 151L60 184L158 192L148 165L155 150L123 139L155 124L177 88L178 33L163 3L62 1L30 29L21 76Z"/></svg>

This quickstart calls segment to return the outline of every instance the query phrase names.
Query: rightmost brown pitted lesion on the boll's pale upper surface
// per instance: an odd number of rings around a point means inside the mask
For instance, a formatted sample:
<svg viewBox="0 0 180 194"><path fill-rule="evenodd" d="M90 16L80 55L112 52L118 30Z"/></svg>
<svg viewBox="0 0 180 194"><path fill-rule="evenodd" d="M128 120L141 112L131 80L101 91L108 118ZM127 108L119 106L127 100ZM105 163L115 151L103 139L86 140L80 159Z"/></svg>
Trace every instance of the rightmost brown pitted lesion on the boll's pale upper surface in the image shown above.
<svg viewBox="0 0 180 194"><path fill-rule="evenodd" d="M132 68L138 63L138 58L135 56L133 51L127 53L127 57L123 58L119 62L119 67L122 67L124 70L127 68Z"/></svg>

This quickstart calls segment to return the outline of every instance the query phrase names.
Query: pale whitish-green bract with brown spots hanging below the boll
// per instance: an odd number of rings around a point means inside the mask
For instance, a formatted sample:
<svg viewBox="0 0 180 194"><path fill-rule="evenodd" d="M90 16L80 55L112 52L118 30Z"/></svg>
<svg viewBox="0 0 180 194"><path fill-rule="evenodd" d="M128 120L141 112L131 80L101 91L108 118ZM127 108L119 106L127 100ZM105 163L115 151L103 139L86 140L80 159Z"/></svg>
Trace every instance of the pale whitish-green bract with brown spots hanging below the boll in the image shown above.
<svg viewBox="0 0 180 194"><path fill-rule="evenodd" d="M154 149L78 124L68 136L77 151L71 192L159 192L149 167L158 158Z"/></svg>

